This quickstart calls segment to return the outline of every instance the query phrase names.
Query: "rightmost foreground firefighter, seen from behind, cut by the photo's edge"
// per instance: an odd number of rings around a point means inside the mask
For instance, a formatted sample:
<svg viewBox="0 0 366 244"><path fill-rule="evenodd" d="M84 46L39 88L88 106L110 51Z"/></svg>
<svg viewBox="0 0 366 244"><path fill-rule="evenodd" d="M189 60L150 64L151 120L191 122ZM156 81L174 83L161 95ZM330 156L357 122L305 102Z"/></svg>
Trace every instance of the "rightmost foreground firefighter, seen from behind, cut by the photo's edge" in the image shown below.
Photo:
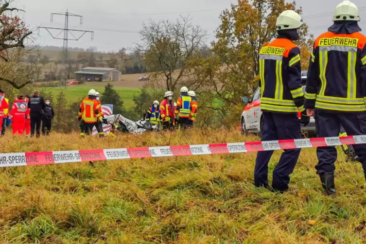
<svg viewBox="0 0 366 244"><path fill-rule="evenodd" d="M333 25L316 38L306 82L305 108L315 113L318 137L337 137L341 124L349 136L366 134L366 37L360 33L359 11L343 1L335 8ZM315 109L315 111L314 111ZM366 172L366 144L353 146ZM315 166L327 194L335 194L337 150L318 147Z"/></svg>

